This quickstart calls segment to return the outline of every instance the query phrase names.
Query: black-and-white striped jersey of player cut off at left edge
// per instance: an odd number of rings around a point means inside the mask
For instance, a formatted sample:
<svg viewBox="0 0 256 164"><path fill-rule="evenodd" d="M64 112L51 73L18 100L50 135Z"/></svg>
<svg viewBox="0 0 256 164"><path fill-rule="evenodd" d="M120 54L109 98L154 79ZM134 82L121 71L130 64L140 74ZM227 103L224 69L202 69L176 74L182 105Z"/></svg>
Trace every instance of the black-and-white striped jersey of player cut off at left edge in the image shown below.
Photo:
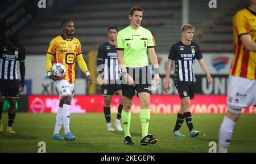
<svg viewBox="0 0 256 164"><path fill-rule="evenodd" d="M0 44L0 80L18 80L18 62L25 62L25 49L19 45L9 48Z"/></svg>

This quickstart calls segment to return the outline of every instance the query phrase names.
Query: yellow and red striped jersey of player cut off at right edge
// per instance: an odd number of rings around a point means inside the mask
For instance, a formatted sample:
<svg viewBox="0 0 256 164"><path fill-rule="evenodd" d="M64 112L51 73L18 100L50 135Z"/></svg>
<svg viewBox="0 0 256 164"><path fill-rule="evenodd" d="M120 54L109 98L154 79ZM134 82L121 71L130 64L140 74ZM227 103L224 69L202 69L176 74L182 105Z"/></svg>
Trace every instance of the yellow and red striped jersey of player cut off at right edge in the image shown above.
<svg viewBox="0 0 256 164"><path fill-rule="evenodd" d="M242 34L250 34L256 41L256 15L249 8L240 10L233 17L234 59L229 75L256 79L256 53L245 48Z"/></svg>

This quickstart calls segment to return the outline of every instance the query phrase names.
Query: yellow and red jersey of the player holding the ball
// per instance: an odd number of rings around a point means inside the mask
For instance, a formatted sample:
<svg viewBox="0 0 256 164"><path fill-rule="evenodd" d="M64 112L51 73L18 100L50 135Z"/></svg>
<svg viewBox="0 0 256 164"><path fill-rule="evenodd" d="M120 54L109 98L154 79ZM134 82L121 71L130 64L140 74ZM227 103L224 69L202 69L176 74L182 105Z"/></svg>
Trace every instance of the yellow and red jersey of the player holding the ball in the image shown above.
<svg viewBox="0 0 256 164"><path fill-rule="evenodd" d="M61 63L66 67L66 74L61 79L75 83L75 59L82 54L80 41L72 37L68 40L63 35L53 38L47 50L53 55L53 63Z"/></svg>

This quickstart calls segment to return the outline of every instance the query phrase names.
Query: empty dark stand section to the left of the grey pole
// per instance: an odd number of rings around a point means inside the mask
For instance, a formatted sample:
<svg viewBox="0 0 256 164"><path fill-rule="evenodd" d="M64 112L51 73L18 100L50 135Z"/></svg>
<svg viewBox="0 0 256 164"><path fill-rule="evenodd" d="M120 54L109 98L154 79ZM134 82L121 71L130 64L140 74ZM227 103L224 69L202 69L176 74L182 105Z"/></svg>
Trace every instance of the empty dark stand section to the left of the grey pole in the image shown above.
<svg viewBox="0 0 256 164"><path fill-rule="evenodd" d="M23 44L28 54L44 54L52 37L61 33L60 22L72 19L76 25L76 36L83 51L97 50L107 40L106 28L116 25L119 29L129 24L127 13L138 5L145 10L143 25L153 33L157 51L168 52L170 45L180 39L181 1L74 1L67 8L45 12L42 19L26 29Z"/></svg>

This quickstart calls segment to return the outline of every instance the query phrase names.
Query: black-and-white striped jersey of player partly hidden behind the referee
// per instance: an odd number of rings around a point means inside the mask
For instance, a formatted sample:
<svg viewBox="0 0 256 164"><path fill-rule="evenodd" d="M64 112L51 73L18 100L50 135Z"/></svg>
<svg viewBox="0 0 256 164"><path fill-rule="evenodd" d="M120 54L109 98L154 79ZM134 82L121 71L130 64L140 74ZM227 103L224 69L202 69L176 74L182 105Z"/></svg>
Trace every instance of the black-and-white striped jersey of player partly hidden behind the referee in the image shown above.
<svg viewBox="0 0 256 164"><path fill-rule="evenodd" d="M98 48L97 61L98 71L101 77L104 76L108 81L108 84L116 84L116 81L120 79L120 68L118 67L115 45L112 45L109 42L101 44ZM101 64L104 64L104 67L100 68L99 66Z"/></svg>

